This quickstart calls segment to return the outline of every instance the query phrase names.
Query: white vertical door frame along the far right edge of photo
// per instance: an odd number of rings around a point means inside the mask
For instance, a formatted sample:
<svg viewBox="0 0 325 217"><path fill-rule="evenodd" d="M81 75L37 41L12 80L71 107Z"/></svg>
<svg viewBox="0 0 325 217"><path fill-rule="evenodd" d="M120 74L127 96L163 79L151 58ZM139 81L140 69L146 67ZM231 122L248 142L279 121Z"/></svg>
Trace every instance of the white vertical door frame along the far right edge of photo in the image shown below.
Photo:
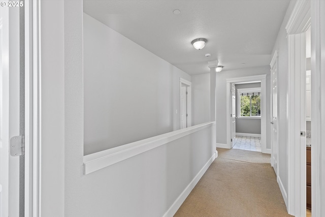
<svg viewBox="0 0 325 217"><path fill-rule="evenodd" d="M325 215L325 2L311 1L311 202L312 215ZM321 118L322 117L322 118Z"/></svg>

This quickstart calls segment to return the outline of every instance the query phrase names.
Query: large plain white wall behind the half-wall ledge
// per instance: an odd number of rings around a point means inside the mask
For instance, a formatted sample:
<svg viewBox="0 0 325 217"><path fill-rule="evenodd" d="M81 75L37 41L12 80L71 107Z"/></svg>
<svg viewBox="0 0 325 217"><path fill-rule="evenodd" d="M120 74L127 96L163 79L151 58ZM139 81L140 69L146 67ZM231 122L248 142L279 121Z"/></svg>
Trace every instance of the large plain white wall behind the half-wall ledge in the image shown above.
<svg viewBox="0 0 325 217"><path fill-rule="evenodd" d="M180 129L190 75L84 14L84 154Z"/></svg>

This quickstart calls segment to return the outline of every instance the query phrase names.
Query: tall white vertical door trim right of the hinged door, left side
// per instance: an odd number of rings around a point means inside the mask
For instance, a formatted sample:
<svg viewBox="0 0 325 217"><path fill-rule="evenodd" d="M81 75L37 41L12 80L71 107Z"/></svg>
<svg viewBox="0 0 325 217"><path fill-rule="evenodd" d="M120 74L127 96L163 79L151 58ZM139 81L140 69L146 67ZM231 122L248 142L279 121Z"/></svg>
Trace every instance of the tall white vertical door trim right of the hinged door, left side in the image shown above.
<svg viewBox="0 0 325 217"><path fill-rule="evenodd" d="M25 6L25 216L41 216L41 0Z"/></svg>

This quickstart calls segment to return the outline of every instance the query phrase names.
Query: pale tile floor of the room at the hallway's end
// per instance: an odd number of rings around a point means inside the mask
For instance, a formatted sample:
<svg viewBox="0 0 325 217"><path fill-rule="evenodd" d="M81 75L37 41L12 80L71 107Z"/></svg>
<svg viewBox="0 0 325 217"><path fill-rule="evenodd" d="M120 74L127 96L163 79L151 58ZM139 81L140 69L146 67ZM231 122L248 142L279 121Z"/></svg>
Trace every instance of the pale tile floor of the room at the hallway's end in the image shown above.
<svg viewBox="0 0 325 217"><path fill-rule="evenodd" d="M233 148L261 152L261 138L249 136L236 136L235 145Z"/></svg>

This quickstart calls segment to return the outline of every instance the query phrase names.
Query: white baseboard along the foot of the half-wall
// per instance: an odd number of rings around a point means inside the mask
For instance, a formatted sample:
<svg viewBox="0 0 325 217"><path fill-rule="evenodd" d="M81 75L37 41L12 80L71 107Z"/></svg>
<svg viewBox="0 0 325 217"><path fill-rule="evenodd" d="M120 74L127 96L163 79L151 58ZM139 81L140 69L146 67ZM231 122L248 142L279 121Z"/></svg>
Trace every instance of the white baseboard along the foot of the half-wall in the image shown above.
<svg viewBox="0 0 325 217"><path fill-rule="evenodd" d="M216 152L217 153L217 152ZM214 159L216 158L215 154L208 160L208 162L204 165L204 167L200 170L200 172L193 178L193 180L187 185L187 187L184 189L184 191L180 194L180 196L175 200L173 205L167 210L167 212L164 214L163 217L169 217L174 216L174 214L177 212L179 207L183 204L189 193L193 190L195 185L199 182L203 174L207 171L209 166L212 164Z"/></svg>

